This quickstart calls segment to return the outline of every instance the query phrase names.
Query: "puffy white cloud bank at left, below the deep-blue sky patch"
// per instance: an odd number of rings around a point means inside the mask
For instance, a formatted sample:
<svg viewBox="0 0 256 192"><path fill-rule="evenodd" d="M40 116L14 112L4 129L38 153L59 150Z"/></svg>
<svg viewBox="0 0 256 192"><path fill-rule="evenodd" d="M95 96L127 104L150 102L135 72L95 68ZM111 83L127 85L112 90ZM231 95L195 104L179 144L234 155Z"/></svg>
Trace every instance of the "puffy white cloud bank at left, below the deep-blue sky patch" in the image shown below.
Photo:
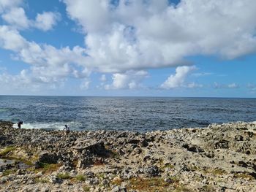
<svg viewBox="0 0 256 192"><path fill-rule="evenodd" d="M24 85L36 82L54 84L64 82L67 77L89 77L91 73L91 70L83 66L85 49L78 46L72 49L56 49L51 45L38 45L36 42L27 41L17 29L9 26L0 26L0 47L15 52L15 59L31 64L29 71L22 73L29 74L26 75L27 78L21 74L13 78L8 76L8 82L16 80ZM7 77L7 74L4 77ZM1 80L3 81L3 78Z"/></svg>

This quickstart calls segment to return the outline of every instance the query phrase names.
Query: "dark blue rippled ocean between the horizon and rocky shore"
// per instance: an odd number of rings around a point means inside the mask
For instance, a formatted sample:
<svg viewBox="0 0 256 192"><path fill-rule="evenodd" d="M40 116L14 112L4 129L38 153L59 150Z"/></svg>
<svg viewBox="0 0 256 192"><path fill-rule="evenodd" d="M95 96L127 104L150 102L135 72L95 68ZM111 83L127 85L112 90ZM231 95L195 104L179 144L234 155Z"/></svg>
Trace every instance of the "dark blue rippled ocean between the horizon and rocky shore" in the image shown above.
<svg viewBox="0 0 256 192"><path fill-rule="evenodd" d="M22 128L144 132L255 121L256 99L0 96L0 120L22 120Z"/></svg>

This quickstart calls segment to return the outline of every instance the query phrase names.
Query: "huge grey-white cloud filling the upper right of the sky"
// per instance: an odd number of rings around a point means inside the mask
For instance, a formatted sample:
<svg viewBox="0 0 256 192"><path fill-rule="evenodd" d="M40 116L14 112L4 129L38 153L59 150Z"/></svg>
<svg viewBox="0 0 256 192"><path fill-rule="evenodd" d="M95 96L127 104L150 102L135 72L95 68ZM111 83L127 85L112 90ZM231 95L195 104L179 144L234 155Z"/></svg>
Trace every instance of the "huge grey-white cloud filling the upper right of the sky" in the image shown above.
<svg viewBox="0 0 256 192"><path fill-rule="evenodd" d="M190 55L233 59L256 50L256 1L63 0L100 72L184 65Z"/></svg>

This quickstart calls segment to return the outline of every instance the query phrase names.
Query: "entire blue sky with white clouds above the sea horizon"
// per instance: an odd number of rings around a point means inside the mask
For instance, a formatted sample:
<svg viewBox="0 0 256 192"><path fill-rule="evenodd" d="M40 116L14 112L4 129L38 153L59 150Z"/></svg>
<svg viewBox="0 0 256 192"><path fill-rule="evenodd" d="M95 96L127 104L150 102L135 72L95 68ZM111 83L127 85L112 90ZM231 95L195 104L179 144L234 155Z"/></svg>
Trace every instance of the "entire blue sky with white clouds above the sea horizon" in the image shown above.
<svg viewBox="0 0 256 192"><path fill-rule="evenodd" d="M0 95L256 96L255 0L0 0Z"/></svg>

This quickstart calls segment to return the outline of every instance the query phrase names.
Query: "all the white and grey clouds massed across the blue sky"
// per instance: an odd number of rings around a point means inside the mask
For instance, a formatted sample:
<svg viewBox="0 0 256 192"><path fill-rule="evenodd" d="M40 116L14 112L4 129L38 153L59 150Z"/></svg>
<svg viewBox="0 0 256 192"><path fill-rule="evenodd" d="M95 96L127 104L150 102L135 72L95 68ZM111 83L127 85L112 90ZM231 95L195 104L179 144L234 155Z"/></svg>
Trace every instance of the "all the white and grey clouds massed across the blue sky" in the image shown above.
<svg viewBox="0 0 256 192"><path fill-rule="evenodd" d="M195 70L184 66L190 64L189 56L228 60L256 51L254 0L181 0L177 5L167 0L61 2L84 35L83 47L57 48L25 39L20 31L53 30L60 13L45 11L28 18L22 0L0 0L0 47L30 66L10 81L27 78L21 82L51 85L74 77L87 89L91 72L99 72L112 74L105 89L139 88L148 77L146 70L177 67L176 74L159 86L196 88L202 85L184 84ZM3 75L7 74L0 80Z"/></svg>

